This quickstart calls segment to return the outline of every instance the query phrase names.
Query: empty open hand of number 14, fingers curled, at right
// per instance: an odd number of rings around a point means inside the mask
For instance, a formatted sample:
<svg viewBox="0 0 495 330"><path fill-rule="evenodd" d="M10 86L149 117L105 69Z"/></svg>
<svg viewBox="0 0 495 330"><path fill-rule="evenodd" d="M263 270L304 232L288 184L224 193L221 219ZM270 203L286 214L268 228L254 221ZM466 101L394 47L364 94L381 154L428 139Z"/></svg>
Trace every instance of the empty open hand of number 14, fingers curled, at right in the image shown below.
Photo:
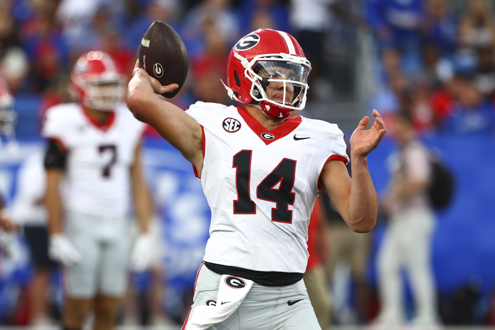
<svg viewBox="0 0 495 330"><path fill-rule="evenodd" d="M365 157L372 152L373 149L378 147L387 132L382 116L376 109L373 110L373 116L375 117L375 122L370 129L365 129L369 122L369 117L365 116L350 137L350 149L356 156Z"/></svg>

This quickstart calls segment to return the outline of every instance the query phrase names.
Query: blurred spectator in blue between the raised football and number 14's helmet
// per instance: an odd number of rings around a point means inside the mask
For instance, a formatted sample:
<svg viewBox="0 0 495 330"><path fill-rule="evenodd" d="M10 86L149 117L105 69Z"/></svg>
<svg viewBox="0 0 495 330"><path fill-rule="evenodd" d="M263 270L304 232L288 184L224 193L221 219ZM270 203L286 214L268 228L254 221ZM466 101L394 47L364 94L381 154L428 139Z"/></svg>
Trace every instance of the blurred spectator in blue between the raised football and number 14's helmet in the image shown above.
<svg viewBox="0 0 495 330"><path fill-rule="evenodd" d="M239 23L229 0L203 0L186 15L181 36L190 59L205 55L208 42L213 42L208 34L212 31L217 39L214 42L222 43L223 48L239 40Z"/></svg>

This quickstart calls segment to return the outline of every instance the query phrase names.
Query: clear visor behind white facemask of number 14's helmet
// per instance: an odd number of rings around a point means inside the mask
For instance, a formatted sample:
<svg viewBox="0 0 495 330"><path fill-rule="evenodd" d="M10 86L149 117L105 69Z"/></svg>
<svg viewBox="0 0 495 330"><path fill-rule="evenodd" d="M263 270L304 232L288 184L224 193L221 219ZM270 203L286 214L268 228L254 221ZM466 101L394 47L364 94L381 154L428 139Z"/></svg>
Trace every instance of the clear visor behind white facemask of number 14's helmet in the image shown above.
<svg viewBox="0 0 495 330"><path fill-rule="evenodd" d="M282 104L294 105L307 88L309 69L288 61L257 61L252 67L259 77L266 97Z"/></svg>

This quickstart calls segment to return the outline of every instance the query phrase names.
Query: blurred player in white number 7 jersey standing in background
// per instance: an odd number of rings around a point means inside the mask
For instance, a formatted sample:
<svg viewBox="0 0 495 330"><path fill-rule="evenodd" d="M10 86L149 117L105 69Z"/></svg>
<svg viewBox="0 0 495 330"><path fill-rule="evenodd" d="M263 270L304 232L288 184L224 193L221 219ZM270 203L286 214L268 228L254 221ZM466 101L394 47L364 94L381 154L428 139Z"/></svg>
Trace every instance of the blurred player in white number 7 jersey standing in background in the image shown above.
<svg viewBox="0 0 495 330"><path fill-rule="evenodd" d="M49 254L65 266L63 328L81 329L94 311L94 329L108 330L125 293L129 260L134 270L144 271L151 258L150 201L140 156L145 127L122 104L122 77L109 55L82 55L70 78L77 103L47 110L42 130L49 139ZM132 200L140 234L130 258Z"/></svg>

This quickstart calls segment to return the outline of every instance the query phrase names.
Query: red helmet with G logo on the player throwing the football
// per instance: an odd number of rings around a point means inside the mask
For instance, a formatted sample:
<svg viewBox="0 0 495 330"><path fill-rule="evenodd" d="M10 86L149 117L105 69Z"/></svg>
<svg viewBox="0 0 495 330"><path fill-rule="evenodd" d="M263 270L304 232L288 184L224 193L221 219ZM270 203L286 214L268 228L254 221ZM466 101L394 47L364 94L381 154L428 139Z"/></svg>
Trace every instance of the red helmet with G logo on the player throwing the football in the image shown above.
<svg viewBox="0 0 495 330"><path fill-rule="evenodd" d="M230 51L224 86L231 99L259 106L266 116L281 119L304 108L310 70L311 63L293 36L259 29ZM268 86L272 88L267 94Z"/></svg>

